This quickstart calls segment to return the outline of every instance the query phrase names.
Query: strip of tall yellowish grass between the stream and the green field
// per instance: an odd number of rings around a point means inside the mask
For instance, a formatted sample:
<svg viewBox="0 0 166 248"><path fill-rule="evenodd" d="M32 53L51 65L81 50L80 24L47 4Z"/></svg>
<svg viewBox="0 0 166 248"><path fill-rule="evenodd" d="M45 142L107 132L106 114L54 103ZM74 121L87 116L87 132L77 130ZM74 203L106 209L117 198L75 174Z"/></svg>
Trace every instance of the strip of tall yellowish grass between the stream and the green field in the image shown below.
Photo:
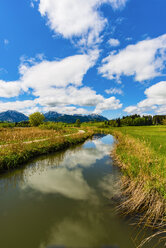
<svg viewBox="0 0 166 248"><path fill-rule="evenodd" d="M121 167L123 194L126 201L121 207L128 214L144 212L141 221L156 227L166 220L165 159L151 146L130 135L114 131L118 140L113 157Z"/></svg>

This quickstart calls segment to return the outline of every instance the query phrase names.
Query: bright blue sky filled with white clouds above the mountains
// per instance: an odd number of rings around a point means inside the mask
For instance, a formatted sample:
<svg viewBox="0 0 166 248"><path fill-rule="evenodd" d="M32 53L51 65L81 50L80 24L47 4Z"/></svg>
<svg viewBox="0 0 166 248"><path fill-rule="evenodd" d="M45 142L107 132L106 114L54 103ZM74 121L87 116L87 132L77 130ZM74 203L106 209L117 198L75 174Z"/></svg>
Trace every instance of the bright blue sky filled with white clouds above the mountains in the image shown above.
<svg viewBox="0 0 166 248"><path fill-rule="evenodd" d="M1 0L0 112L166 114L165 0Z"/></svg>

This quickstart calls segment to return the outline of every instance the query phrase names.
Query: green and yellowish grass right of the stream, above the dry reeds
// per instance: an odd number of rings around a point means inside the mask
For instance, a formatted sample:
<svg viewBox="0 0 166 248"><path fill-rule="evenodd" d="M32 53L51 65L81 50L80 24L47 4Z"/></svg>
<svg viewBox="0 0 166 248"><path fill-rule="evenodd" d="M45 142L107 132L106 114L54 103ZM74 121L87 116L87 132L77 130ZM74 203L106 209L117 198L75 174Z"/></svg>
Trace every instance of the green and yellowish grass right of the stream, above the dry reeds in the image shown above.
<svg viewBox="0 0 166 248"><path fill-rule="evenodd" d="M166 199L166 127L114 128L116 153L130 177L141 177Z"/></svg>

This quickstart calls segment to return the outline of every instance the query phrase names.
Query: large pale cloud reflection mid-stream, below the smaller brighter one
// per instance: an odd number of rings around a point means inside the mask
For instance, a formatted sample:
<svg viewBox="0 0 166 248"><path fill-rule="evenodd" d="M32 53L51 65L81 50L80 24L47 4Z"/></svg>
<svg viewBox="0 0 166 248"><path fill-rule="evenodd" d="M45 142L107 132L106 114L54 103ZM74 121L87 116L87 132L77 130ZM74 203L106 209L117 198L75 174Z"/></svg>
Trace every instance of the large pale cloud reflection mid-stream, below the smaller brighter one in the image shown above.
<svg viewBox="0 0 166 248"><path fill-rule="evenodd" d="M30 187L41 193L61 194L68 198L87 200L94 192L83 178L81 169L67 168L49 169L40 174L35 173L28 178L22 189Z"/></svg>

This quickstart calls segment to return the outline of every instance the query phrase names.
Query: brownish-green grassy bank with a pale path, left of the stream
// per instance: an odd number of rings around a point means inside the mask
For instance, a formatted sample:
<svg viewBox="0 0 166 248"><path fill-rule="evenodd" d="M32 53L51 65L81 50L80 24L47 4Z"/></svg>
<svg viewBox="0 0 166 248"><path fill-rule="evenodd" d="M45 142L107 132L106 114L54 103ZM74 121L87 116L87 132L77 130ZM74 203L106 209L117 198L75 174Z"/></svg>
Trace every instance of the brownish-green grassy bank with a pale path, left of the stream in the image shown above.
<svg viewBox="0 0 166 248"><path fill-rule="evenodd" d="M79 133L77 129L75 130L77 133L73 133L72 129L61 134L59 132L53 132L52 130L39 130L38 128L33 128L33 135L31 135L30 131L32 131L32 129L27 128L25 128L25 130L21 129L21 133L19 130L8 130L8 132L17 133L19 138L18 136L13 138L13 135L10 140L3 140L5 145L1 145L0 149L1 173L18 168L36 156L60 151L71 145L81 143L93 135L92 131ZM24 135L22 136L22 133L27 133L27 137ZM20 137L22 137L22 139Z"/></svg>

